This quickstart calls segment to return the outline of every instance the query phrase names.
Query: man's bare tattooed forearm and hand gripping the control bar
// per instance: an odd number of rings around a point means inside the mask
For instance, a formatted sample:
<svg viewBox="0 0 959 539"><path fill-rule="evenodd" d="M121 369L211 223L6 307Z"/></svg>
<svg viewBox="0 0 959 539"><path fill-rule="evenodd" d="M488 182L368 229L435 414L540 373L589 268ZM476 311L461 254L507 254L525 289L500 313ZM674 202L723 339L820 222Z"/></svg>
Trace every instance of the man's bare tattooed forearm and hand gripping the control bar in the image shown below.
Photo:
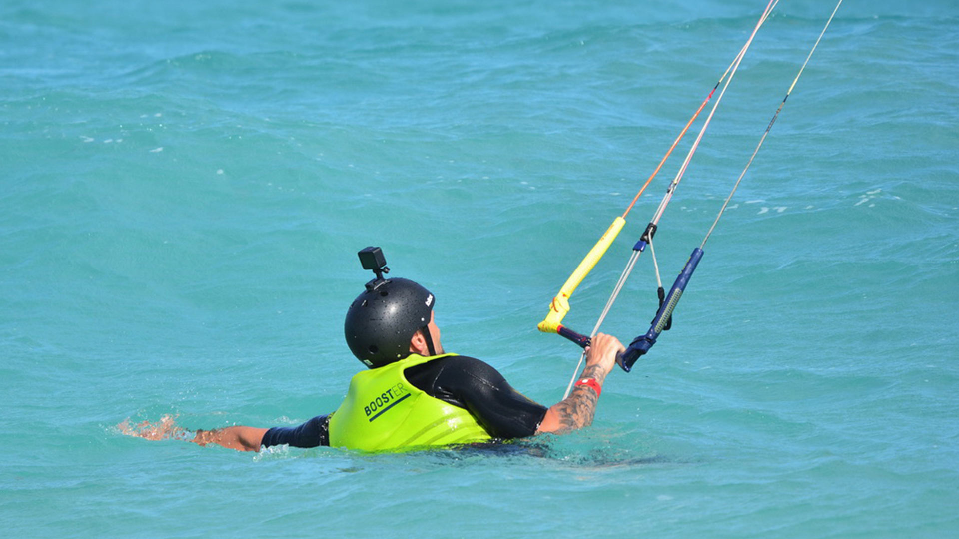
<svg viewBox="0 0 959 539"><path fill-rule="evenodd" d="M601 388L606 375L616 365L617 353L622 350L625 350L625 347L619 339L602 333L596 334L593 344L586 349L586 368L579 380L593 380L596 387ZM547 410L536 434L565 434L591 425L596 414L596 401L599 399L599 393L593 384L577 383L569 397Z"/></svg>

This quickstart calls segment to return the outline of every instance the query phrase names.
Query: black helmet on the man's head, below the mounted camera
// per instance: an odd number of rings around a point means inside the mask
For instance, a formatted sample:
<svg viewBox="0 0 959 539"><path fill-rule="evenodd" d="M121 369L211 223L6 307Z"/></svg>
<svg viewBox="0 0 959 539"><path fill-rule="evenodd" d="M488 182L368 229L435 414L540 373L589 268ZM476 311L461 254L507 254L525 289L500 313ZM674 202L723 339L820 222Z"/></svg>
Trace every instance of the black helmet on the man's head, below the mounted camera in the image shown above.
<svg viewBox="0 0 959 539"><path fill-rule="evenodd" d="M370 368L409 356L409 340L419 329L424 330L432 352L433 341L427 329L432 312L433 294L413 281L374 279L366 283L366 290L346 313L346 343Z"/></svg>

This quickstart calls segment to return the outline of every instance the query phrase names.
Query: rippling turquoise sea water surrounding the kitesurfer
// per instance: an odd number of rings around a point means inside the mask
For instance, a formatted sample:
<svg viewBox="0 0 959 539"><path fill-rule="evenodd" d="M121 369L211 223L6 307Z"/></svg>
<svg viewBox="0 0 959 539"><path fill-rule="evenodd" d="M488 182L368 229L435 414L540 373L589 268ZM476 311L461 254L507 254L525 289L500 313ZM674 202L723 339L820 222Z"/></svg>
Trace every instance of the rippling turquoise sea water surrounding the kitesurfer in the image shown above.
<svg viewBox="0 0 959 539"><path fill-rule="evenodd" d="M592 428L391 456L116 428L334 410L360 367L340 328L367 245L436 293L447 349L554 403L578 354L535 324L763 5L3 3L6 533L959 535L948 1L840 9L675 327L610 375ZM760 30L660 223L667 281L832 7L784 1ZM574 329L681 156L573 295ZM645 331L654 287L646 253L604 330Z"/></svg>

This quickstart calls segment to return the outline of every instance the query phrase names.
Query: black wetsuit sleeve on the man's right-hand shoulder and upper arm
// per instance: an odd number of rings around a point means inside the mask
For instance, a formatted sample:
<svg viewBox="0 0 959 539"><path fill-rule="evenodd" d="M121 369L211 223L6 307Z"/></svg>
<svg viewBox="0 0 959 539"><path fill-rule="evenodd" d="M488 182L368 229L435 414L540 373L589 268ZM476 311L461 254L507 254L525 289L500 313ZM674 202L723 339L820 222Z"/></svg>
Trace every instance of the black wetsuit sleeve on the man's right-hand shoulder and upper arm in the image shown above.
<svg viewBox="0 0 959 539"><path fill-rule="evenodd" d="M438 399L461 406L497 438L520 438L536 434L547 408L506 382L500 371L475 358L452 356L426 363L434 373L433 384L422 387L407 370L413 385ZM425 373L424 373L425 374Z"/></svg>

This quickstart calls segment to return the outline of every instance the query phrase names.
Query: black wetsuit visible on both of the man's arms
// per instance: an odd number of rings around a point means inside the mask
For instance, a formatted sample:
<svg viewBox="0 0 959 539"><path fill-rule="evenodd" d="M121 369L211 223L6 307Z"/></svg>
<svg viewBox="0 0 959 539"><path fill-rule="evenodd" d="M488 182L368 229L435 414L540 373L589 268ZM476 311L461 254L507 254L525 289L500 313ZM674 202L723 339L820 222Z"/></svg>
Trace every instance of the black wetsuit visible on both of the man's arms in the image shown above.
<svg viewBox="0 0 959 539"><path fill-rule="evenodd" d="M409 383L428 395L465 408L494 438L531 436L547 408L529 400L506 382L498 370L466 356L449 356L413 365L404 371ZM264 446L330 445L330 414L317 415L297 427L273 427Z"/></svg>

